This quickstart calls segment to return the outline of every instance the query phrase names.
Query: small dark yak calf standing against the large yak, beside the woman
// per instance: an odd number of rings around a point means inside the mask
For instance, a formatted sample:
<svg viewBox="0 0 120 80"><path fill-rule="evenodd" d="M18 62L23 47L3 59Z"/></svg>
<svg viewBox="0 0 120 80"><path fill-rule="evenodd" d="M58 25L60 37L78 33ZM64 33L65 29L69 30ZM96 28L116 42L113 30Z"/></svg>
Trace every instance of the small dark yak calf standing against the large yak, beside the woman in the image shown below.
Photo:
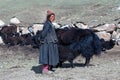
<svg viewBox="0 0 120 80"><path fill-rule="evenodd" d="M62 67L62 63L69 61L71 67L73 68L73 60L80 55L77 51L70 50L69 46L58 45L59 50L59 63L56 67Z"/></svg>

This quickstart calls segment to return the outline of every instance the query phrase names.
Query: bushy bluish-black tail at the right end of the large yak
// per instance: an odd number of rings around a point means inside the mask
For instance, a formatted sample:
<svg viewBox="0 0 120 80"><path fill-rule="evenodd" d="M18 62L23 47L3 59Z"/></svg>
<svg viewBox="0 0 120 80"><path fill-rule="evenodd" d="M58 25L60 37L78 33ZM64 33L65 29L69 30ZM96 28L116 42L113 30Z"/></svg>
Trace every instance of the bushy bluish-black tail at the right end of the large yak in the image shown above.
<svg viewBox="0 0 120 80"><path fill-rule="evenodd" d="M102 44L99 37L95 33L93 33L93 46L94 46L94 54L95 55L101 54Z"/></svg>

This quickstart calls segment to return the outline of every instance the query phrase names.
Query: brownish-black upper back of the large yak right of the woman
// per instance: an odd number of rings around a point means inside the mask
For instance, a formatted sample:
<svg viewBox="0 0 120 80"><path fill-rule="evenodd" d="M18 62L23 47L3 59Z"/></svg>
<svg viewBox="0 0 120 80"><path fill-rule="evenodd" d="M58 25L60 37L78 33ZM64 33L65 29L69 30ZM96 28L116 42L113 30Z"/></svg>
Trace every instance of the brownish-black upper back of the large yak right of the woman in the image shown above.
<svg viewBox="0 0 120 80"><path fill-rule="evenodd" d="M92 35L94 32L89 29L56 29L59 43L62 45L69 45L73 42L79 41L82 37Z"/></svg>

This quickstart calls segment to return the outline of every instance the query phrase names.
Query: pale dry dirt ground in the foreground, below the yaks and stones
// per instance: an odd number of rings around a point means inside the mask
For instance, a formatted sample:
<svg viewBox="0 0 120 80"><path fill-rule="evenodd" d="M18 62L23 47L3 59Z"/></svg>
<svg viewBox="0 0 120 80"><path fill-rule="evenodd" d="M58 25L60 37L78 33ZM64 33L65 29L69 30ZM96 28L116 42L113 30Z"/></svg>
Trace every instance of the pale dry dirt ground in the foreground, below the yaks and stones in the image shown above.
<svg viewBox="0 0 120 80"><path fill-rule="evenodd" d="M0 46L0 80L120 80L120 47L94 56L89 67L82 67L84 58L74 60L75 68L66 61L52 74L41 74L39 50L31 46Z"/></svg>

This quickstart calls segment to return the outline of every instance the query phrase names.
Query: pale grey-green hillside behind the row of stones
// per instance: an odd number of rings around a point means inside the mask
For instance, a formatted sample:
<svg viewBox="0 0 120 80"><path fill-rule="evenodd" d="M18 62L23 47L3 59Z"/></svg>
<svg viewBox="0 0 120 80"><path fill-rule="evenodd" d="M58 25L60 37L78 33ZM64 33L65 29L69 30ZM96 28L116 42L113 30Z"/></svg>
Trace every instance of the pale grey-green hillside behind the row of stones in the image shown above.
<svg viewBox="0 0 120 80"><path fill-rule="evenodd" d="M92 26L119 18L119 6L120 0L0 0L0 19L8 24L11 17L17 16L28 26L43 22L46 11L51 9L56 13L56 22L79 20Z"/></svg>

